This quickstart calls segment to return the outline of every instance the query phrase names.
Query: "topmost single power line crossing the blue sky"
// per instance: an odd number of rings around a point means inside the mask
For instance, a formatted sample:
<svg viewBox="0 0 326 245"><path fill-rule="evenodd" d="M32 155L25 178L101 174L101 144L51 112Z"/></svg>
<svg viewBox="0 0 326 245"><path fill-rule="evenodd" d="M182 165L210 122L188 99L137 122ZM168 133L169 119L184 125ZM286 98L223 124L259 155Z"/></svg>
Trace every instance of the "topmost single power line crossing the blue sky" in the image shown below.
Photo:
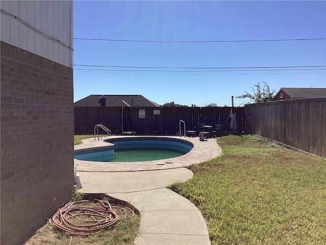
<svg viewBox="0 0 326 245"><path fill-rule="evenodd" d="M102 39L102 38L73 38L75 40L110 41L110 42L174 42L174 43L207 43L207 42L279 42L279 41L311 41L326 40L326 38L294 38L294 39L262 39L262 40L220 40L220 41L155 41L155 40L124 40L124 39Z"/></svg>

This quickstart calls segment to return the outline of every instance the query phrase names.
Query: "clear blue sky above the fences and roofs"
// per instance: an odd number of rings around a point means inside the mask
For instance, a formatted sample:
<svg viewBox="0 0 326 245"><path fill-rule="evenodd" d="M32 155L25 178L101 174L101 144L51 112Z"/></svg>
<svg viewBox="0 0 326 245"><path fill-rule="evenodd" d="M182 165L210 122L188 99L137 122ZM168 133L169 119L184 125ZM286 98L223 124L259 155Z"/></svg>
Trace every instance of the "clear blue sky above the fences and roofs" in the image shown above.
<svg viewBox="0 0 326 245"><path fill-rule="evenodd" d="M326 87L325 67L284 68L325 66L326 40L218 42L326 38L325 1L74 1L73 6L74 101L90 94L141 94L161 105L229 106L232 95L252 93L263 81L276 92ZM274 66L282 68L237 68ZM246 102L234 99L236 106Z"/></svg>

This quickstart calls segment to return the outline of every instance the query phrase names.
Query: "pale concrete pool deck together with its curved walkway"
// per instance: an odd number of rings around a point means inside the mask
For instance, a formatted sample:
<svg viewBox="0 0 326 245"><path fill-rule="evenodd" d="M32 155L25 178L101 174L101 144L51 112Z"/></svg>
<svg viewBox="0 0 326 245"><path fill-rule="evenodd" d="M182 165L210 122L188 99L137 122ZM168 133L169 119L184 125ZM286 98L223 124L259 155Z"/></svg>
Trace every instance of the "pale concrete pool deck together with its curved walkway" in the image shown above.
<svg viewBox="0 0 326 245"><path fill-rule="evenodd" d="M114 136L113 136L114 137ZM128 136L131 137L131 136ZM107 138L107 137L106 137ZM180 137L174 137L180 138ZM198 164L222 153L216 139L191 141L194 148L184 156L157 161L103 163L75 160L84 193L105 193L126 201L141 214L135 245L210 245L206 222L198 208L181 195L165 188L176 181L193 178L186 166ZM103 146L106 142L83 140L75 150ZM95 163L95 164L94 164Z"/></svg>

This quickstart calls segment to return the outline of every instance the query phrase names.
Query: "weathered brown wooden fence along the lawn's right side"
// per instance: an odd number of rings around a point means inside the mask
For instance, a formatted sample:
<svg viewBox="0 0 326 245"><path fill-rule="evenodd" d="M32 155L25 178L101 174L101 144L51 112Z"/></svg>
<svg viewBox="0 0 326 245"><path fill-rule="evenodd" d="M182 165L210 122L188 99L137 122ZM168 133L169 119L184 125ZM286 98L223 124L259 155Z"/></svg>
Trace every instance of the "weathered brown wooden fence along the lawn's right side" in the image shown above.
<svg viewBox="0 0 326 245"><path fill-rule="evenodd" d="M326 98L246 105L246 133L326 158Z"/></svg>

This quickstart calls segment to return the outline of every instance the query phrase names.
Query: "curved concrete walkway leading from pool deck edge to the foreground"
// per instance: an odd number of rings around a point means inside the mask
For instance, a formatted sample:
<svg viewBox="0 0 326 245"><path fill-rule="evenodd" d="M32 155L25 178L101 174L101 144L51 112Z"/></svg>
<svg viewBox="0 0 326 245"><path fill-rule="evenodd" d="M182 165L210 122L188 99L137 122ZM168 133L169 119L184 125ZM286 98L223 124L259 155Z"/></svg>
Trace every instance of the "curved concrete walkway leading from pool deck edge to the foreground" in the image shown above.
<svg viewBox="0 0 326 245"><path fill-rule="evenodd" d="M106 193L127 201L141 213L136 245L209 245L206 222L181 195L165 188L186 181L193 172L174 168L134 172L79 172L85 193Z"/></svg>

